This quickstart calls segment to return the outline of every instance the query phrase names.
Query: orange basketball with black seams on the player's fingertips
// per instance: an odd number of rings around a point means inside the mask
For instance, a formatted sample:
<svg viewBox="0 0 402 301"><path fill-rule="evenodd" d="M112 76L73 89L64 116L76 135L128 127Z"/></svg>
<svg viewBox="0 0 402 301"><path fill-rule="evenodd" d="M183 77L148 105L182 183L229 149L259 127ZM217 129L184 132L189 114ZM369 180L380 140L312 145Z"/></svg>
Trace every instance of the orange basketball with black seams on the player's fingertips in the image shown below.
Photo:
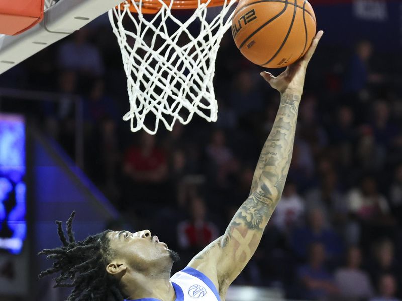
<svg viewBox="0 0 402 301"><path fill-rule="evenodd" d="M307 0L240 0L232 19L237 48L266 68L297 61L315 34L316 17Z"/></svg>

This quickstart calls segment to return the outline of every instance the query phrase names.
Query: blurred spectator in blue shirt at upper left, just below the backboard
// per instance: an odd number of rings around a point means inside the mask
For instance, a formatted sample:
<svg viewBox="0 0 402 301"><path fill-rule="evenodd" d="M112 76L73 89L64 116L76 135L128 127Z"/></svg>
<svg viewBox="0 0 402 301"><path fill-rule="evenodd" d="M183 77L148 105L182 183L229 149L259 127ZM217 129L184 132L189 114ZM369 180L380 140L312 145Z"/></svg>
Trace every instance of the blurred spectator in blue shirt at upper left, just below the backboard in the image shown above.
<svg viewBox="0 0 402 301"><path fill-rule="evenodd" d="M58 66L61 69L78 71L88 76L104 73L99 50L88 42L89 31L83 27L77 30L59 47Z"/></svg>

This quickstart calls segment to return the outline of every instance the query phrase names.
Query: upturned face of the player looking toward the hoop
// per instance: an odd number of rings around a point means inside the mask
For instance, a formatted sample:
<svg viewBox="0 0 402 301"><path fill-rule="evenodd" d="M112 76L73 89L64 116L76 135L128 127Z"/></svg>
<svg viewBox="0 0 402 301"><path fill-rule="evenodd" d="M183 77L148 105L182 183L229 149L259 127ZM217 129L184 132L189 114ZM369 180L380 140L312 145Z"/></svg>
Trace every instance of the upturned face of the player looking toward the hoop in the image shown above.
<svg viewBox="0 0 402 301"><path fill-rule="evenodd" d="M107 234L115 257L124 260L136 270L148 269L155 264L172 262L167 245L152 236L149 230L135 233L111 231Z"/></svg>

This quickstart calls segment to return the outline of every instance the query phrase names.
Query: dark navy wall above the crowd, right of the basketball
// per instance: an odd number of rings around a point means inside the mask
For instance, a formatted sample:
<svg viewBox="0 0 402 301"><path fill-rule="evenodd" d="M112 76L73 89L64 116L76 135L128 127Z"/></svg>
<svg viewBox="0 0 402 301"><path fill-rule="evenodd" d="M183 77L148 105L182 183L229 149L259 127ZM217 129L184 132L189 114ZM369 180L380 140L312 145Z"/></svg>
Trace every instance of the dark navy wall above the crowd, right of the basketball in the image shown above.
<svg viewBox="0 0 402 301"><path fill-rule="evenodd" d="M361 39L367 39L379 51L401 51L401 1L310 0L310 3L316 13L317 29L325 31L322 41L325 44L349 47Z"/></svg>

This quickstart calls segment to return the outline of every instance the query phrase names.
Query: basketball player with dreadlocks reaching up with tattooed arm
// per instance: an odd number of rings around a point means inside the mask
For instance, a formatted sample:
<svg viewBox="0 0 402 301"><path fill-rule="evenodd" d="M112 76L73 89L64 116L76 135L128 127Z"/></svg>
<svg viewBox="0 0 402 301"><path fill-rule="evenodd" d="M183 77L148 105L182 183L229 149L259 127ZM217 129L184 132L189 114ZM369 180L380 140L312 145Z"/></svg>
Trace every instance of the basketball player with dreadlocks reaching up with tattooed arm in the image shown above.
<svg viewBox="0 0 402 301"><path fill-rule="evenodd" d="M272 131L262 149L248 199L225 234L170 277L178 255L148 230L105 231L76 242L67 221L67 236L58 224L63 246L43 250L55 259L43 277L61 272L55 287L74 287L68 301L219 301L254 254L265 226L278 204L292 157L297 112L307 65L323 35L320 31L306 55L278 77L261 75L281 94ZM269 254L267 254L269 256Z"/></svg>

